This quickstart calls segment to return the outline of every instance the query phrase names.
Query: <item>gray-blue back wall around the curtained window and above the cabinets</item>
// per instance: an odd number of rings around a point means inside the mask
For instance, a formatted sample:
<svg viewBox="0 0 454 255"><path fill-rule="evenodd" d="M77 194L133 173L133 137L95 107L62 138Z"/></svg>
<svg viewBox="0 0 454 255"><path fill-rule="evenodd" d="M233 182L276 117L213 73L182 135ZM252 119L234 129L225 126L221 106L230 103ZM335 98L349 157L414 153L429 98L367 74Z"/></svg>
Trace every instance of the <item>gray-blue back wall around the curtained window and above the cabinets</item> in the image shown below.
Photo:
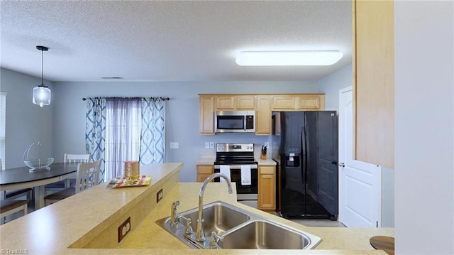
<svg viewBox="0 0 454 255"><path fill-rule="evenodd" d="M85 151L85 102L82 97L170 97L166 108L167 162L182 162L180 180L196 180L196 162L201 153L215 154L205 148L206 141L214 143L252 142L260 149L270 136L253 134L199 134L199 97L209 93L316 93L315 82L55 82L54 151L57 161L63 153ZM178 142L179 148L170 148Z"/></svg>

